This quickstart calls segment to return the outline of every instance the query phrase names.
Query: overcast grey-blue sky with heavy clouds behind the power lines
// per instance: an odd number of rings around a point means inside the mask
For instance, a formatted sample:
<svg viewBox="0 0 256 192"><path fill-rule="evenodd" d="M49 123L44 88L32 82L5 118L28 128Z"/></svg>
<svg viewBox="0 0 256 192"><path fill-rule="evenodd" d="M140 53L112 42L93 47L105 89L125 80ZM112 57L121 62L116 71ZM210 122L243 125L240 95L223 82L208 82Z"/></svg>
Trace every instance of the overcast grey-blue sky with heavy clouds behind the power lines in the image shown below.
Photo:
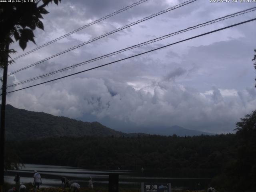
<svg viewBox="0 0 256 192"><path fill-rule="evenodd" d="M34 32L37 45L29 43L25 52L134 2L136 0L62 0L58 6L51 4L46 8L50 13L42 20L45 30ZM182 2L148 0L16 60L8 72ZM18 72L8 78L8 84L254 6L256 3L198 0ZM250 12L230 18L9 91L132 56L255 16L256 12ZM235 123L256 106L256 74L252 62L256 48L255 32L253 21L110 66L13 92L7 95L7 103L56 116L98 121L125 132L134 127L174 125L211 133L234 132ZM13 58L24 53L18 44L12 44L12 48L18 51Z"/></svg>

